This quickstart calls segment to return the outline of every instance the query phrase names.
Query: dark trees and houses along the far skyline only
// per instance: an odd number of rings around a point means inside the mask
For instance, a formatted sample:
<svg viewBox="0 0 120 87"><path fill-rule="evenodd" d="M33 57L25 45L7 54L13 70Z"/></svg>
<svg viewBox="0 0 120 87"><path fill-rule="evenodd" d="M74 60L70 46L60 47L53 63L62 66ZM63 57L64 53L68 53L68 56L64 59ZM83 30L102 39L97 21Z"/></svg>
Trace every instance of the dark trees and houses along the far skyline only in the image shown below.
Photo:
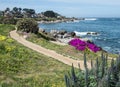
<svg viewBox="0 0 120 87"><path fill-rule="evenodd" d="M48 10L41 13L36 13L34 9L29 8L18 8L14 7L12 10L10 8L6 8L4 11L0 11L0 16L3 17L14 17L14 18L39 18L39 17L50 17L57 18L61 16L60 14Z"/></svg>

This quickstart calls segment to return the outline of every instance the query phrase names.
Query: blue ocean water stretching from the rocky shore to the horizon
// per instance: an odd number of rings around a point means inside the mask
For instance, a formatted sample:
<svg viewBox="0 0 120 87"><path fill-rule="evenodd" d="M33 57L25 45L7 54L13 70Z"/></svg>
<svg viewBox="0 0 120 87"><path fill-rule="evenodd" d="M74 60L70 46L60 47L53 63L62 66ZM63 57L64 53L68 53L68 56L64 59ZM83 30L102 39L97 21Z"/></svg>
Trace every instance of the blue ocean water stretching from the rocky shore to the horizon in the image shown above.
<svg viewBox="0 0 120 87"><path fill-rule="evenodd" d="M68 32L97 32L98 35L83 35L110 53L120 54L120 18L85 18L74 22L39 24L50 31L66 30Z"/></svg>

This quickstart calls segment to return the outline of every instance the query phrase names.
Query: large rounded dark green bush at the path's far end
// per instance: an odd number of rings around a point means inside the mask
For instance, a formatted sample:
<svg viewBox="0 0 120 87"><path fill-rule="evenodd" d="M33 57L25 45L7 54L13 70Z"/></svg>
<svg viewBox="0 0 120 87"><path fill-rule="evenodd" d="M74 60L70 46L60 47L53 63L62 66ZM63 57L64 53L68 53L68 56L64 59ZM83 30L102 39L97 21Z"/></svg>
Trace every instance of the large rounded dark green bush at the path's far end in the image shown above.
<svg viewBox="0 0 120 87"><path fill-rule="evenodd" d="M38 33L38 24L33 19L22 19L17 22L17 30L27 33Z"/></svg>

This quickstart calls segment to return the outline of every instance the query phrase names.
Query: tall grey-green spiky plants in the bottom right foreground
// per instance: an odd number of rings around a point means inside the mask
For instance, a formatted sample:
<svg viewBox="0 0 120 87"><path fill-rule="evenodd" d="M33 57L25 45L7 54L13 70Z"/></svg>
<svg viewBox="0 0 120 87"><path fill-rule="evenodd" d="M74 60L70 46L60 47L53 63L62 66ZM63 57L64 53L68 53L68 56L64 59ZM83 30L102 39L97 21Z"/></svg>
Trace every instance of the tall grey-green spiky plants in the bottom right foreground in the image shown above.
<svg viewBox="0 0 120 87"><path fill-rule="evenodd" d="M85 71L79 68L76 72L72 66L71 72L65 74L66 87L120 87L120 57L110 61L102 53L96 62L91 60L91 69L87 68L86 61L84 54Z"/></svg>

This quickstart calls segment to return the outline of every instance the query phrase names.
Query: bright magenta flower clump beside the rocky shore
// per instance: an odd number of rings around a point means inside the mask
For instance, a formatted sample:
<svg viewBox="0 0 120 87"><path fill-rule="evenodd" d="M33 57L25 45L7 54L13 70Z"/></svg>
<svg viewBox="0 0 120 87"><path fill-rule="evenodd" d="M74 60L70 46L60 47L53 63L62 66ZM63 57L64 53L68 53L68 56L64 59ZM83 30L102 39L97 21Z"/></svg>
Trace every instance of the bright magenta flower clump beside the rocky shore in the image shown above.
<svg viewBox="0 0 120 87"><path fill-rule="evenodd" d="M79 38L72 39L69 44L74 46L77 50L84 51L86 48L90 49L93 52L100 51L100 47L96 46L94 43L86 42L80 40Z"/></svg>

